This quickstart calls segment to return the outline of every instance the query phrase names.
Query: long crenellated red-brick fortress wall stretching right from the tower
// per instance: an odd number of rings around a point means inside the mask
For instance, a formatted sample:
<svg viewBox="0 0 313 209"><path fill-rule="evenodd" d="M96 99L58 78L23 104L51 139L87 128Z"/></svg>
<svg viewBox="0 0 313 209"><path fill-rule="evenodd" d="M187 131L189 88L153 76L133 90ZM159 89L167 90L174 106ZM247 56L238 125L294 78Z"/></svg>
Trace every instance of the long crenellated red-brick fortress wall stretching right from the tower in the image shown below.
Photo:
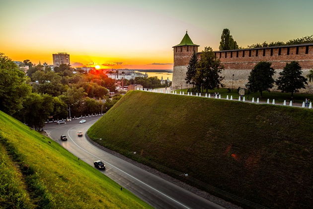
<svg viewBox="0 0 313 209"><path fill-rule="evenodd" d="M277 79L279 72L283 70L286 63L297 61L302 67L303 76L313 69L313 44L281 46L281 47L267 47L256 49L241 49L228 51L214 51L215 56L220 58L225 70L222 76L225 76L223 83L226 88L233 87L234 75L234 89L244 87L248 82L248 76L251 69L260 61L267 61L272 63L272 67L276 73L274 79ZM197 53L200 59L201 52ZM191 55L190 55L191 56ZM185 57L188 61L190 59ZM188 62L187 60L184 63ZM174 66L175 66L175 52L174 52ZM182 63L182 62L181 62ZM175 67L174 67L175 68ZM186 73L184 74L186 75ZM183 76L183 75L181 75ZM174 75L173 75L174 81ZM276 87L272 91L278 91ZM313 93L313 84L309 83L306 89L300 90L303 93Z"/></svg>

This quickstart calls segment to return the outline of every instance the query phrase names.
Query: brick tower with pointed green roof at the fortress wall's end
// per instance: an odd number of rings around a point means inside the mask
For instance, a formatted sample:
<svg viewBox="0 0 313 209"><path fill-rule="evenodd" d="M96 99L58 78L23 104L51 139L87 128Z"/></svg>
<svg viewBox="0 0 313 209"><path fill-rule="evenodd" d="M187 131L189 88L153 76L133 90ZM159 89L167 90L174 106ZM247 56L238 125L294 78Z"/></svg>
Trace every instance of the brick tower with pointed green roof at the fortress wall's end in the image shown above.
<svg viewBox="0 0 313 209"><path fill-rule="evenodd" d="M187 66L193 52L198 52L199 45L196 45L190 39L187 31L181 42L173 46L174 48L174 68L173 68L173 81L172 88L188 88L186 84Z"/></svg>

